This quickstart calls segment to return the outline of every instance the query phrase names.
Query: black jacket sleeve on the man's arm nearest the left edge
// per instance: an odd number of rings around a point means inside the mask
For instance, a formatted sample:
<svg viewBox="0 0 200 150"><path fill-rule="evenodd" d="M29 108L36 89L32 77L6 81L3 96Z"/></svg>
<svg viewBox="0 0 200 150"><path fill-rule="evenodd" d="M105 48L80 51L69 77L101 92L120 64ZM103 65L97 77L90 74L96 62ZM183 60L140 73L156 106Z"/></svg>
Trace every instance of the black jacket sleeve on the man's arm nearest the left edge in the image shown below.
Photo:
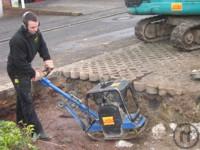
<svg viewBox="0 0 200 150"><path fill-rule="evenodd" d="M9 46L12 64L19 73L29 74L30 77L33 78L35 76L35 70L32 68L31 63L28 63L27 61L26 46L23 44L22 39L11 39Z"/></svg>

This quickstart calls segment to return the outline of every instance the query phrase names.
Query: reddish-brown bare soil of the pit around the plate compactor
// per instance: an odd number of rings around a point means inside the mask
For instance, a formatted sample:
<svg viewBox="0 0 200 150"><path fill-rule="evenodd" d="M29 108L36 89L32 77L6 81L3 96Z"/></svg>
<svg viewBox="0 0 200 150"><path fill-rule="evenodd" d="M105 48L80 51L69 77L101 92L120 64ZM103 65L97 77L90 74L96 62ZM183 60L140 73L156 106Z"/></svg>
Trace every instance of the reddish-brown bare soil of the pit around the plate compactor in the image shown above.
<svg viewBox="0 0 200 150"><path fill-rule="evenodd" d="M80 99L84 99L86 92L96 83L79 80L65 81L62 79L59 81L57 80L54 84L64 91L71 92ZM175 102L173 101L174 98L170 96L161 98L140 93L138 98L141 110L149 120L147 128L143 134L137 138L127 140L127 142L133 144L132 147L117 147L116 144L120 140L94 141L90 139L70 114L57 106L58 101L62 99L62 97L51 89L38 85L34 93L37 114L41 119L45 131L52 138L51 141L38 140L35 145L40 150L177 150L179 147L177 147L173 141L173 132L169 128L169 123L185 121L190 118L191 113L193 112L193 109L191 109L191 111L188 109L193 106L192 103L190 103L191 106L185 105L185 101L188 100L187 96L183 95L182 97L176 98L179 100ZM165 99L165 101L167 99L168 101L163 103L163 99ZM181 101L182 104L180 103ZM172 105L169 105L169 103ZM180 105L177 105L177 103ZM175 109L173 107L175 107ZM185 109L188 109L186 113L188 116L173 115L173 112L179 112L178 114L181 114ZM192 116L194 116L193 113ZM181 119L183 116L186 116L185 120ZM3 119L15 120L13 110L11 115L4 116ZM199 121L198 116L193 120ZM165 125L166 133L160 138L155 138L152 135L151 129L158 123L163 123ZM198 142L193 149L196 150L197 147L200 147L200 142Z"/></svg>

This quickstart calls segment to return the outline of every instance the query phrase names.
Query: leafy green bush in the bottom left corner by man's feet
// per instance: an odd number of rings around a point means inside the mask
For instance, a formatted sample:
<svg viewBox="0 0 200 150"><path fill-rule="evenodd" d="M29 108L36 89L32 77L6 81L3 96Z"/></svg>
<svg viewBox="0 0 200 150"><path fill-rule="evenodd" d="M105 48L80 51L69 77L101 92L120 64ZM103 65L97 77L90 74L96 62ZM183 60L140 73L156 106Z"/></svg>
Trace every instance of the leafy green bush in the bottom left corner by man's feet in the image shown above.
<svg viewBox="0 0 200 150"><path fill-rule="evenodd" d="M0 121L1 150L37 150L32 145L33 125L23 125L22 129L12 121Z"/></svg>

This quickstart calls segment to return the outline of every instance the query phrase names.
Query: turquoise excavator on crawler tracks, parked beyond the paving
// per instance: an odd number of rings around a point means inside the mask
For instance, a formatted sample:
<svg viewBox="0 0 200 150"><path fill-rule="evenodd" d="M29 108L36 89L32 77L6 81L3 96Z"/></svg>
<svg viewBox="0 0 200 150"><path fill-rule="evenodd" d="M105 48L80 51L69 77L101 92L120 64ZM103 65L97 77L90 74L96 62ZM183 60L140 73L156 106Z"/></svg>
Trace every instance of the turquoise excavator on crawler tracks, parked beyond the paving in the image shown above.
<svg viewBox="0 0 200 150"><path fill-rule="evenodd" d="M180 50L200 49L200 0L125 0L125 4L132 15L153 15L137 23L138 39L170 39Z"/></svg>

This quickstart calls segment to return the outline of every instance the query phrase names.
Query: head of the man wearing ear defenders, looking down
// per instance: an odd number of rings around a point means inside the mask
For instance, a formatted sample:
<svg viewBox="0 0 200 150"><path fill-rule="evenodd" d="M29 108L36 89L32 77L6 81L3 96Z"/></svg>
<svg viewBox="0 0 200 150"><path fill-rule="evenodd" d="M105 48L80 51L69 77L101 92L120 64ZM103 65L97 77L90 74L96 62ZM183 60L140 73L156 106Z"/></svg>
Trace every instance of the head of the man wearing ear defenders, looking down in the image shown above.
<svg viewBox="0 0 200 150"><path fill-rule="evenodd" d="M31 11L25 12L22 16L22 22L29 33L37 33L40 22L36 14Z"/></svg>

